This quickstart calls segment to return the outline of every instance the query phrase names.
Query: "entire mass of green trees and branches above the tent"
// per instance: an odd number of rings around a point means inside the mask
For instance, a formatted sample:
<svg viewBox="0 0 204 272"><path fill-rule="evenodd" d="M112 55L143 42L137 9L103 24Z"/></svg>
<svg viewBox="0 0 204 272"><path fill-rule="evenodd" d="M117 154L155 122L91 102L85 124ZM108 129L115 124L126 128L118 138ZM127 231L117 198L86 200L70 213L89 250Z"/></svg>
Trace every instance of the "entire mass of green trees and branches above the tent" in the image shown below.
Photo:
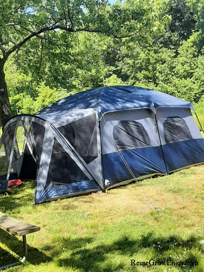
<svg viewBox="0 0 204 272"><path fill-rule="evenodd" d="M202 104L203 4L1 1L2 123L11 114L35 113L64 96L105 85L147 87ZM5 114L2 106L9 104L1 97L7 87L11 110Z"/></svg>

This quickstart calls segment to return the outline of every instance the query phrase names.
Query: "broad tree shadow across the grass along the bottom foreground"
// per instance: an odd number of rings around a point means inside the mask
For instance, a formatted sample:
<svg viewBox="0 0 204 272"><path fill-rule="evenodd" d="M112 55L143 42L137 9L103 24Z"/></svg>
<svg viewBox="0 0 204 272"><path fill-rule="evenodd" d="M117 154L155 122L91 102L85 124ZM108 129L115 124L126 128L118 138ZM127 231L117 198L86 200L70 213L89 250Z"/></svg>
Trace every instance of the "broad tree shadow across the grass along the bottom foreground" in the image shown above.
<svg viewBox="0 0 204 272"><path fill-rule="evenodd" d="M80 239L62 239L60 241L61 246L64 248L64 252L61 255L56 256L54 248L52 248L53 257L55 256L55 262L58 266L71 267L73 269L81 269L82 271L119 271L120 269L131 268L131 259L137 253L140 253L144 248L152 248L152 258L156 262L165 262L169 257L169 250L192 249L192 247L201 250L201 244L199 244L199 238L190 236L184 240L180 236L166 236L155 237L155 234L150 232L147 235L141 236L139 239L131 239L129 237L122 237L110 244L104 244L99 246L92 246L94 239L80 238ZM158 244L159 243L159 244ZM67 253L66 253L67 251ZM72 252L71 254L68 252ZM68 257L66 257L68 255ZM124 256L123 258L121 258ZM191 254L183 255L184 262L198 262L198 255L191 252ZM126 261L124 261L126 259ZM149 261L149 260L143 260ZM174 260L175 261L175 260ZM182 270L186 271L187 267L191 269L193 266L185 266Z"/></svg>

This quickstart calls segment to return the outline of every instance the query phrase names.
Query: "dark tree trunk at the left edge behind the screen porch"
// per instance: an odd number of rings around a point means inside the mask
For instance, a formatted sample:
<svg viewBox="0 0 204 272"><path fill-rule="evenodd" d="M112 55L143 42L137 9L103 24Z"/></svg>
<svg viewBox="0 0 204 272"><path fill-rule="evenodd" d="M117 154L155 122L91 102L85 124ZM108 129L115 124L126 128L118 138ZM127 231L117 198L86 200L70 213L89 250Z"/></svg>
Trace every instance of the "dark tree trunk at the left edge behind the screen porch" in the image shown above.
<svg viewBox="0 0 204 272"><path fill-rule="evenodd" d="M4 62L0 60L0 120L2 130L4 128L6 120L12 116L3 68Z"/></svg>

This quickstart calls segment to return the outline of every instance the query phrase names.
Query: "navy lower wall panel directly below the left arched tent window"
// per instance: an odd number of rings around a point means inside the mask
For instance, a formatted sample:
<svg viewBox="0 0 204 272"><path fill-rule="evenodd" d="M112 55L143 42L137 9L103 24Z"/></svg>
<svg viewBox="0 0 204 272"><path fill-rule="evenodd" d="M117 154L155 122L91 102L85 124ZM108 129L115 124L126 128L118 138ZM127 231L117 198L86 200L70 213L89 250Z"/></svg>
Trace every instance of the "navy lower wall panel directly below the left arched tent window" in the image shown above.
<svg viewBox="0 0 204 272"><path fill-rule="evenodd" d="M107 187L133 179L124 161L136 178L155 173L166 174L161 146L122 150L121 153L103 155L104 179L109 182Z"/></svg>

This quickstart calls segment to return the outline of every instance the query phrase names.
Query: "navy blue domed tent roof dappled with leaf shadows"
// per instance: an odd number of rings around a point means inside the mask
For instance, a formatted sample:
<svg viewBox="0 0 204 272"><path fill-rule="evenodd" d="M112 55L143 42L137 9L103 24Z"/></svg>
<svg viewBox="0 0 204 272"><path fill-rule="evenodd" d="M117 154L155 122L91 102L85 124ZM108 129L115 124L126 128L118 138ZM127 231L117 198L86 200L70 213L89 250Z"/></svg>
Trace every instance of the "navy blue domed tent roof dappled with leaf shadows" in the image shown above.
<svg viewBox="0 0 204 272"><path fill-rule="evenodd" d="M50 104L37 114L87 108L95 108L99 115L115 110L135 108L150 108L155 112L158 107L188 107L193 109L190 102L162 92L133 86L111 86L67 96Z"/></svg>

